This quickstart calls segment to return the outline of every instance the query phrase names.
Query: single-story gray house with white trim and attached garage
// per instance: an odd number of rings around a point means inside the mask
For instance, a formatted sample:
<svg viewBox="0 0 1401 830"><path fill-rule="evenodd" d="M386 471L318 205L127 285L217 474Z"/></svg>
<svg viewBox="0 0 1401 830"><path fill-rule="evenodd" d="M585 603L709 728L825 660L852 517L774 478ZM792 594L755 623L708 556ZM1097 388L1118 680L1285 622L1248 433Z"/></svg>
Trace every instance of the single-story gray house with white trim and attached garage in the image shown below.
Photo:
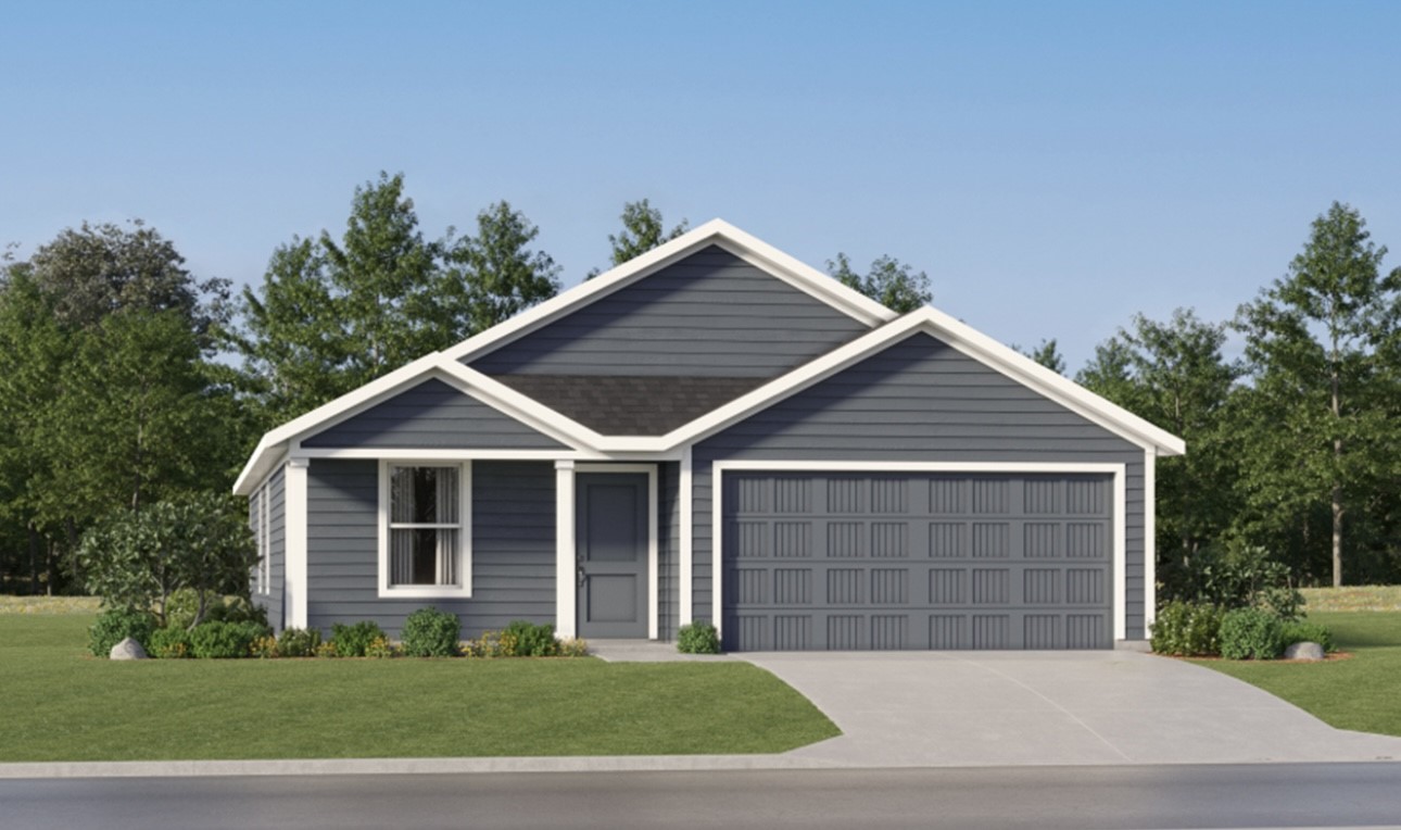
<svg viewBox="0 0 1401 830"><path fill-rule="evenodd" d="M234 491L277 627L1079 649L1146 638L1182 451L716 220L273 429Z"/></svg>

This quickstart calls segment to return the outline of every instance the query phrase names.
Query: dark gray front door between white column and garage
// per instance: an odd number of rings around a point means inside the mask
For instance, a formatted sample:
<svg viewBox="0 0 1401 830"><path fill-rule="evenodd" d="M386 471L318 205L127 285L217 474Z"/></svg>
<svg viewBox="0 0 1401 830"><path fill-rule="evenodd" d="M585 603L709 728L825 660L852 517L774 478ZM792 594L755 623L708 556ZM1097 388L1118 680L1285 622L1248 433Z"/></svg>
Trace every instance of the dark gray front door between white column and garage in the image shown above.
<svg viewBox="0 0 1401 830"><path fill-rule="evenodd" d="M574 479L579 635L647 637L647 475Z"/></svg>

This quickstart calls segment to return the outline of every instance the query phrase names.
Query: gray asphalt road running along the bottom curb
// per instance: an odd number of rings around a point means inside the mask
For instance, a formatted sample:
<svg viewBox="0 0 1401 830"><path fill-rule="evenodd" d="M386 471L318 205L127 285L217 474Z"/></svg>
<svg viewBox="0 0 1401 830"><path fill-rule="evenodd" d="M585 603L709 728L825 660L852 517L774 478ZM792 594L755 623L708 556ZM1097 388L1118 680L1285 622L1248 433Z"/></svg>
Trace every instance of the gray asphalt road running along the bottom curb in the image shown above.
<svg viewBox="0 0 1401 830"><path fill-rule="evenodd" d="M1401 763L8 780L0 827L1401 827Z"/></svg>

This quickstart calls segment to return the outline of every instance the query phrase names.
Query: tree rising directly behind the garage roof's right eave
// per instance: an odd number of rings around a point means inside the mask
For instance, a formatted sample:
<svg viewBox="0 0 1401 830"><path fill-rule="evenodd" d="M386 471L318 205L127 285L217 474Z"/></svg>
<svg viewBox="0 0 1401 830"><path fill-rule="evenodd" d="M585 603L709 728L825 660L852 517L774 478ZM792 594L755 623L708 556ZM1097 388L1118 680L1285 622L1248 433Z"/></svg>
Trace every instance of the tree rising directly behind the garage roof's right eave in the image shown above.
<svg viewBox="0 0 1401 830"><path fill-rule="evenodd" d="M1168 596L1188 593L1192 558L1237 512L1231 401L1240 366L1223 358L1224 343L1226 327L1191 310L1178 308L1166 322L1138 314L1076 376L1187 442L1185 456L1157 463L1157 550Z"/></svg>

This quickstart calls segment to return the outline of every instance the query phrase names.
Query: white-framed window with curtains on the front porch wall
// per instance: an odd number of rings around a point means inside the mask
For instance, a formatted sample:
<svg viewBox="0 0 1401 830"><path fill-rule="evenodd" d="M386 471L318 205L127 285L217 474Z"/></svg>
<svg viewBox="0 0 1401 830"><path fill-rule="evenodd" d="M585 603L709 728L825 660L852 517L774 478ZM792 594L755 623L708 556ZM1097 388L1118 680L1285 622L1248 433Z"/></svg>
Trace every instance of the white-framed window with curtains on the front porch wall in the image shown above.
<svg viewBox="0 0 1401 830"><path fill-rule="evenodd" d="M468 464L394 464L381 471L381 596L471 593Z"/></svg>

